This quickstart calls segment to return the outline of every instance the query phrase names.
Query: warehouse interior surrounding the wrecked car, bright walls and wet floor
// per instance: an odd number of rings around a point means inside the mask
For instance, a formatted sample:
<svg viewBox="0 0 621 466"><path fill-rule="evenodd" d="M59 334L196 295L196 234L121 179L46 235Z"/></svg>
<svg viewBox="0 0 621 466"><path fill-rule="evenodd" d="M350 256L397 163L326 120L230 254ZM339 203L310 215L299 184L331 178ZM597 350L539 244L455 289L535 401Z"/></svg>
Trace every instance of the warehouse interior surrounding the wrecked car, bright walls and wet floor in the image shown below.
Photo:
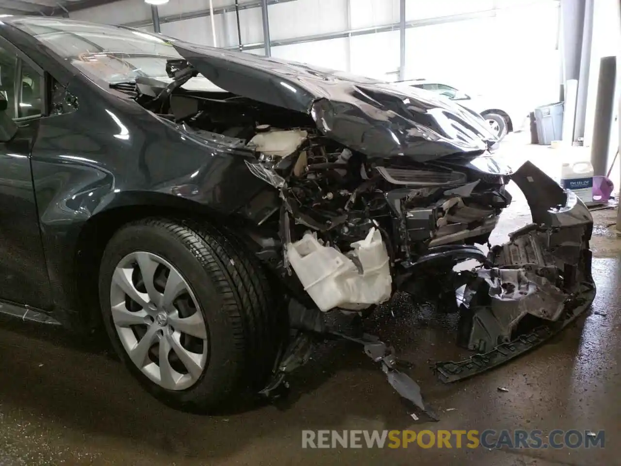
<svg viewBox="0 0 621 466"><path fill-rule="evenodd" d="M0 0L0 22L21 15L52 27L70 19L135 28L263 57L275 68L291 60L438 94L445 86L448 99L476 105L474 112L496 122L501 140L494 150L510 167L530 163L563 187L592 180L589 194L577 195L592 216L597 294L584 314L536 349L455 383L429 368L465 357L446 333L457 325L455 315L402 296L381 304L365 319L365 331L410 363L439 420L410 415L383 371L347 340L315 347L288 378L282 399L250 407L240 400L235 409L204 416L149 396L104 339L76 339L2 316L0 464L619 464L621 2ZM558 119L546 117L556 108ZM502 244L531 222L527 193L513 181L507 190L512 202L488 244ZM603 431L607 445L307 449L302 431L309 429L537 429L546 438L554 429L574 429Z"/></svg>

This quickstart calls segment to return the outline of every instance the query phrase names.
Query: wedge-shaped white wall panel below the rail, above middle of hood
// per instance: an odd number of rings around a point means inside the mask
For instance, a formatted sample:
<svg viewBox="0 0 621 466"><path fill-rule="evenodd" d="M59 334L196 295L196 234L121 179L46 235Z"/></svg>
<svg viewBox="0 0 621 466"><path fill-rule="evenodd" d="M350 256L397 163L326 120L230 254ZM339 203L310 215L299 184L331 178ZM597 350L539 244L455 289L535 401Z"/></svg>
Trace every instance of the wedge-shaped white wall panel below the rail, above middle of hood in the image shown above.
<svg viewBox="0 0 621 466"><path fill-rule="evenodd" d="M271 48L272 57L310 63L330 70L347 71L347 38L280 45Z"/></svg>

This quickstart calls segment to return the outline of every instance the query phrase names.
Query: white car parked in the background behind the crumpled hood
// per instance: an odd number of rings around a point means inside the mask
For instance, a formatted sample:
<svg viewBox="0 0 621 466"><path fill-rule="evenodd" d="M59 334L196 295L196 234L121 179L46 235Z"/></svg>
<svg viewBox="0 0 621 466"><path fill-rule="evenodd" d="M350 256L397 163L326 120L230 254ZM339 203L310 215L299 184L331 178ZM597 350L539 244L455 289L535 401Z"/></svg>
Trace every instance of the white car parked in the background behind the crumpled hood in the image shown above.
<svg viewBox="0 0 621 466"><path fill-rule="evenodd" d="M514 112L509 109L506 103L498 102L494 99L479 94L469 95L464 91L453 86L446 85L437 80L407 80L399 81L399 85L414 86L415 88L425 89L433 93L440 94L446 98L456 101L456 103L464 106L474 112L480 114L491 126L492 132L497 135L498 139L502 139L507 133L522 128L528 112Z"/></svg>

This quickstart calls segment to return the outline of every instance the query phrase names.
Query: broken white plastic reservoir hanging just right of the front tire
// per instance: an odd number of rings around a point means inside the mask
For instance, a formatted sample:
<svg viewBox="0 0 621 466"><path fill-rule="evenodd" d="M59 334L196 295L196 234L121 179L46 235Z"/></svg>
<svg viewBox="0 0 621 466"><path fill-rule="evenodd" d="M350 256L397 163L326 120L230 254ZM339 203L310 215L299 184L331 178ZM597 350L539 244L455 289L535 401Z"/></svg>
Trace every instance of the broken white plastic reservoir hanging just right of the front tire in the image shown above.
<svg viewBox="0 0 621 466"><path fill-rule="evenodd" d="M361 272L345 254L320 244L311 233L287 245L287 258L304 290L322 311L365 309L392 295L388 253L381 233L371 228L366 238L351 244Z"/></svg>

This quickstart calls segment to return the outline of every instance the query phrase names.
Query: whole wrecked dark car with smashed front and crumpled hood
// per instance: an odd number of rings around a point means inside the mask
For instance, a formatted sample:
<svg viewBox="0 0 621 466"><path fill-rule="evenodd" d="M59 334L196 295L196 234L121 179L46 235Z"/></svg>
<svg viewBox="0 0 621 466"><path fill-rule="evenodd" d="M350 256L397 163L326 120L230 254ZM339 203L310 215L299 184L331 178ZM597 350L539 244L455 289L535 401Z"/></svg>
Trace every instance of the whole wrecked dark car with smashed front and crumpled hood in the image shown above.
<svg viewBox="0 0 621 466"><path fill-rule="evenodd" d="M0 52L0 311L105 329L172 406L271 398L315 344L345 339L432 413L363 330L379 305L409 293L459 313L473 355L434 365L455 381L594 298L582 201L507 167L446 99L69 19L3 17ZM491 246L509 181L532 223Z"/></svg>

